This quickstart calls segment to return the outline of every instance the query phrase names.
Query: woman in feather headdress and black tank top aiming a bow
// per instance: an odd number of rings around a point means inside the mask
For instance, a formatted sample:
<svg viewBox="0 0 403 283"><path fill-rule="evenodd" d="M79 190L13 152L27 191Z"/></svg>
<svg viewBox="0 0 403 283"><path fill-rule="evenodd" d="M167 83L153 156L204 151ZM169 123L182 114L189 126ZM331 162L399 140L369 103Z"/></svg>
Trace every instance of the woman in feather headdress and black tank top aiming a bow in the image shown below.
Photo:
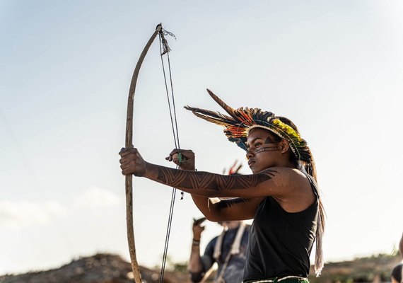
<svg viewBox="0 0 403 283"><path fill-rule="evenodd" d="M257 108L234 110L207 91L229 116L188 106L186 109L222 125L228 139L245 149L252 175L194 171L192 151L183 151L184 161L179 150L168 158L187 170L166 168L144 161L137 149L122 149L119 153L122 173L189 192L211 221L254 219L243 282L308 282L315 238L317 275L323 267L324 212L315 185L315 163L306 141L285 117ZM212 202L210 197L236 198Z"/></svg>

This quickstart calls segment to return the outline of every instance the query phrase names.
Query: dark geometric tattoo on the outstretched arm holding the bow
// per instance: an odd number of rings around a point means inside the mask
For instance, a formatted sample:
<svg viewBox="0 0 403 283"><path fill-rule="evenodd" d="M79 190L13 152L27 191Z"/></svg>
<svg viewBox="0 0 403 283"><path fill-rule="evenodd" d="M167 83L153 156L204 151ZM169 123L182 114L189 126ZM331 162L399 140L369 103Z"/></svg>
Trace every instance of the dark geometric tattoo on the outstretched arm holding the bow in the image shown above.
<svg viewBox="0 0 403 283"><path fill-rule="evenodd" d="M239 190L256 187L274 177L276 171L265 170L253 175L218 175L208 172L189 172L158 166L160 183L190 190Z"/></svg>

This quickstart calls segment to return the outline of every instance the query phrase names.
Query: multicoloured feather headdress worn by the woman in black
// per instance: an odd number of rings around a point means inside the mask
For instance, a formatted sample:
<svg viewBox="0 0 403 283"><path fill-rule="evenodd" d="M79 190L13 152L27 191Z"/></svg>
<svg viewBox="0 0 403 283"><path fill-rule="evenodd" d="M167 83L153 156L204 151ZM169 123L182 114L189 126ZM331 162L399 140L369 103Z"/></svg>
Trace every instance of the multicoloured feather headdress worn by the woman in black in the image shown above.
<svg viewBox="0 0 403 283"><path fill-rule="evenodd" d="M226 105L223 100L218 98L218 96L209 89L207 89L207 92L223 110L226 110L229 116L201 108L193 108L190 106L185 106L185 108L192 111L197 117L223 126L224 133L229 141L235 142L240 148L246 151L246 140L249 131L255 127L264 128L282 139L286 139L298 160L308 163L312 161L312 156L305 139L300 137L296 129L293 129L293 127L283 122L283 120L285 120L284 117L276 116L273 112L262 111L259 108L242 107L233 109Z"/></svg>

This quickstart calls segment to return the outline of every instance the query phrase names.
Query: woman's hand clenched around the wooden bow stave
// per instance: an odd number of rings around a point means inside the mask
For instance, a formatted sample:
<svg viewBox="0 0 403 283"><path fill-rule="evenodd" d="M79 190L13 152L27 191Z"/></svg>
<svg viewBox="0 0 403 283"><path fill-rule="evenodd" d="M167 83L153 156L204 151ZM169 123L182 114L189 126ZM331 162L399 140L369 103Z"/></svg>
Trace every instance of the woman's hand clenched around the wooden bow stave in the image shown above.
<svg viewBox="0 0 403 283"><path fill-rule="evenodd" d="M146 173L147 162L144 161L137 149L132 147L129 149L122 148L119 155L123 175L134 174L140 177Z"/></svg>

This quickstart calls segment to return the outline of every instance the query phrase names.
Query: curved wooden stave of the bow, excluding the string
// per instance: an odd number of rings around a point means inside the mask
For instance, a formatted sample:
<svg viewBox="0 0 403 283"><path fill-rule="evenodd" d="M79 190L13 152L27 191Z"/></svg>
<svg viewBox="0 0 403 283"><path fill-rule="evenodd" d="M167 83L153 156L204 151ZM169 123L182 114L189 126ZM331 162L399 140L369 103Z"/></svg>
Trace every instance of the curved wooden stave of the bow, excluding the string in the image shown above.
<svg viewBox="0 0 403 283"><path fill-rule="evenodd" d="M134 73L132 76L132 82L130 83L129 89L129 98L127 99L127 120L126 120L126 148L132 147L133 141L133 109L134 109L134 94L136 92L136 83L137 78L139 77L139 71L141 64L144 61L144 57L148 52L151 44L154 39L160 33L162 29L162 25L157 25L156 31L151 35L148 40L146 46L144 47L143 52L139 57L139 61L137 61L136 68L134 69ZM126 176L126 224L127 224L127 241L129 242L129 253L130 253L130 261L132 262L132 270L134 276L134 282L141 283L141 275L139 270L139 264L136 259L136 246L134 244L134 228L133 228L133 183L132 183L132 175Z"/></svg>

